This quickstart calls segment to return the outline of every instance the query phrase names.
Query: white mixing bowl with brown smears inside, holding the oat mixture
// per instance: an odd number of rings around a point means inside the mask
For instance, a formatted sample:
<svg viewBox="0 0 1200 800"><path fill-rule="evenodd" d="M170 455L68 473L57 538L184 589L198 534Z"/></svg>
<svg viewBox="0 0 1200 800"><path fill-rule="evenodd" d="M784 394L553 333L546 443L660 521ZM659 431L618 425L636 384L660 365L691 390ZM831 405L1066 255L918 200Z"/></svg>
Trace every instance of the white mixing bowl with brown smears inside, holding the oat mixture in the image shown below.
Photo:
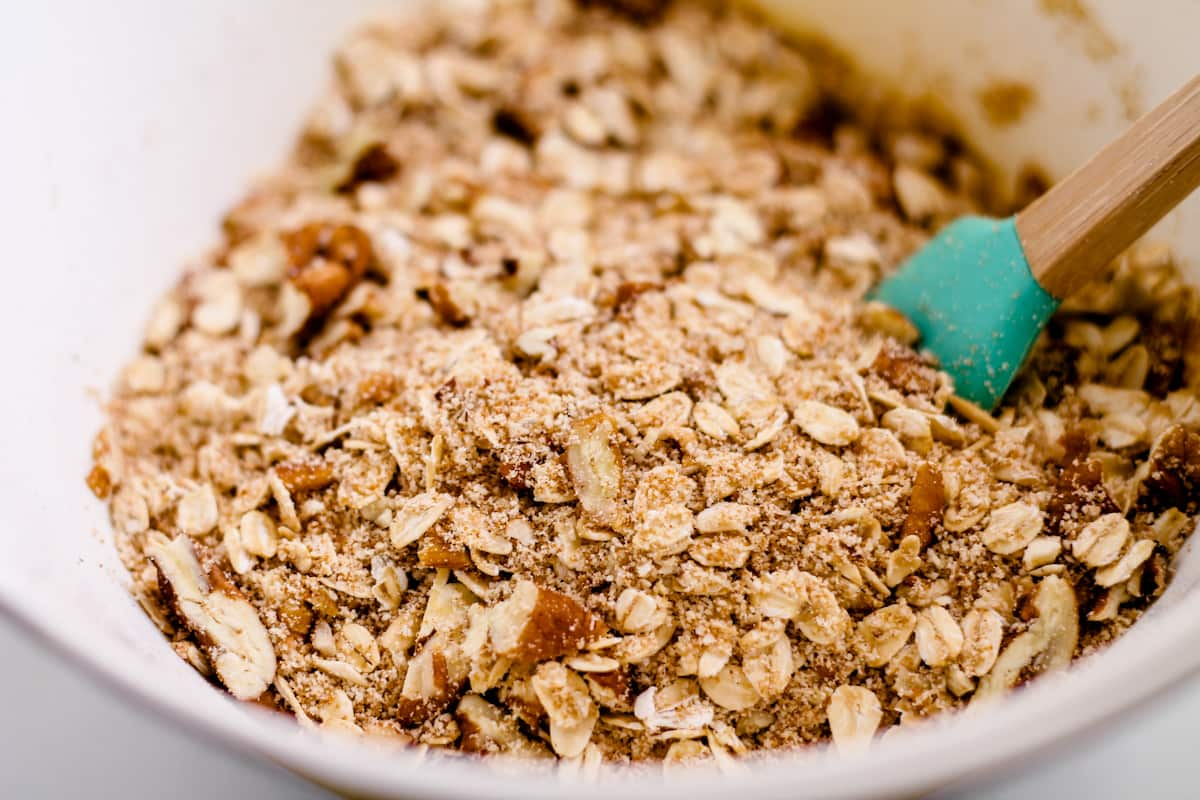
<svg viewBox="0 0 1200 800"><path fill-rule="evenodd" d="M362 796L912 795L1069 741L1200 667L1193 551L1152 613L1067 676L862 757L779 758L732 781L701 769L668 782L605 774L596 786L462 759L422 763L301 734L206 686L126 594L104 512L84 488L97 392L134 351L152 299L214 240L218 213L284 151L334 42L364 13L397 5L59 0L6 8L0 607L131 699ZM835 41L881 84L899 78L901 89L938 97L1010 175L1027 162L1061 175L1200 67L1192 0L764 5ZM982 110L978 94L997 79L1036 88L1018 124L995 127ZM1198 222L1192 204L1159 230L1194 279Z"/></svg>

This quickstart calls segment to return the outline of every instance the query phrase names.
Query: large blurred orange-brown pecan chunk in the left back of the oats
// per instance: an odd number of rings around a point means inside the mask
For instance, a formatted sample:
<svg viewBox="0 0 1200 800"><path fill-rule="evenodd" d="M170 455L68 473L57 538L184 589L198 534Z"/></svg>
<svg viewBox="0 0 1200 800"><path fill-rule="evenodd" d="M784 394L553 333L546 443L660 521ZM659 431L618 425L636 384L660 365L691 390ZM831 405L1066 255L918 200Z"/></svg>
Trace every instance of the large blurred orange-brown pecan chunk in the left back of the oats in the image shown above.
<svg viewBox="0 0 1200 800"><path fill-rule="evenodd" d="M362 279L374 260L371 239L349 224L311 222L284 234L290 269L288 279L322 317Z"/></svg>

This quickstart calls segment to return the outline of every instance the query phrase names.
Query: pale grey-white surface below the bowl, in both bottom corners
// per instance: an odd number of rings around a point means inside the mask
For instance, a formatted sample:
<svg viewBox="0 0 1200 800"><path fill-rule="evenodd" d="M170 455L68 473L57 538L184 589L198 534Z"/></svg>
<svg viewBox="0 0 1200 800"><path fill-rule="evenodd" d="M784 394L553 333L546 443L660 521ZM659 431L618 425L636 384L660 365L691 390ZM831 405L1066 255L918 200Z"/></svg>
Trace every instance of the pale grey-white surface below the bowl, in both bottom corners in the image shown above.
<svg viewBox="0 0 1200 800"><path fill-rule="evenodd" d="M155 720L0 620L0 798L330 800L310 783ZM1198 796L1200 682L1019 775L936 800ZM413 799L415 800L415 799Z"/></svg>

